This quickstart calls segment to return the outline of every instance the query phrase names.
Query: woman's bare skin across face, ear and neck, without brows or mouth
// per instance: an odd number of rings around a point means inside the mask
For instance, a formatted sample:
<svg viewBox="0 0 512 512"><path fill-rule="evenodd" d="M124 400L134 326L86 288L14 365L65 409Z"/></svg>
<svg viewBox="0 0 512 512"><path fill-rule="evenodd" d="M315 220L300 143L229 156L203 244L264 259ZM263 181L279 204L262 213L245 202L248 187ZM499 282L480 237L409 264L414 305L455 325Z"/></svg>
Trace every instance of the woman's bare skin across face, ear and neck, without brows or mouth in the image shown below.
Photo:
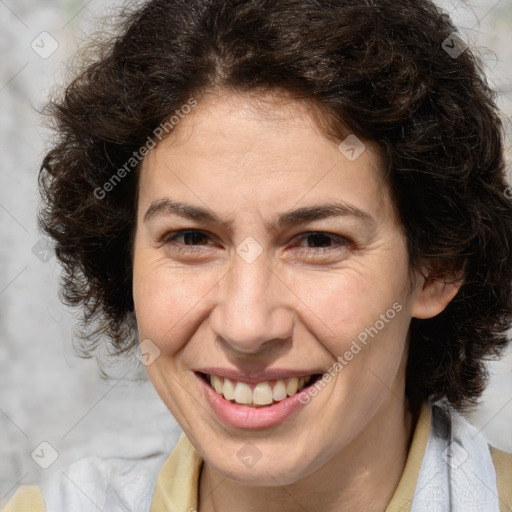
<svg viewBox="0 0 512 512"><path fill-rule="evenodd" d="M438 314L458 288L409 267L376 148L365 141L350 161L339 142L302 103L217 91L143 161L135 311L140 339L160 350L149 377L205 461L201 512L384 511L402 474L414 428L404 392L410 320ZM164 212L145 221L163 198L226 224ZM269 227L286 210L331 201L371 220ZM181 229L204 235L171 240ZM319 242L312 231L327 235ZM252 263L236 252L248 236L263 251ZM401 311L277 427L222 424L194 374L325 372L394 303ZM261 455L252 467L237 456L248 442Z"/></svg>

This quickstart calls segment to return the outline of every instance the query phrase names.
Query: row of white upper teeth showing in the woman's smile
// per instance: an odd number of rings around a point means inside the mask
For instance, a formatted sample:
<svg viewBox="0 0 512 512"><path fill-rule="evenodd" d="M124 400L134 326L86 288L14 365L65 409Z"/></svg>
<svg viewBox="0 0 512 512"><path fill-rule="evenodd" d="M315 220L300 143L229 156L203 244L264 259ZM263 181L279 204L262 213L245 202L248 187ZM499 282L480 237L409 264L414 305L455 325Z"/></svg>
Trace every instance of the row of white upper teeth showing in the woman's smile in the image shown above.
<svg viewBox="0 0 512 512"><path fill-rule="evenodd" d="M244 405L269 405L274 400L279 402L287 396L295 395L311 380L311 375L280 379L274 383L273 388L270 382L264 381L258 382L254 389L251 389L251 386L245 382L233 381L218 375L208 377L210 384L219 395L223 395L226 400Z"/></svg>

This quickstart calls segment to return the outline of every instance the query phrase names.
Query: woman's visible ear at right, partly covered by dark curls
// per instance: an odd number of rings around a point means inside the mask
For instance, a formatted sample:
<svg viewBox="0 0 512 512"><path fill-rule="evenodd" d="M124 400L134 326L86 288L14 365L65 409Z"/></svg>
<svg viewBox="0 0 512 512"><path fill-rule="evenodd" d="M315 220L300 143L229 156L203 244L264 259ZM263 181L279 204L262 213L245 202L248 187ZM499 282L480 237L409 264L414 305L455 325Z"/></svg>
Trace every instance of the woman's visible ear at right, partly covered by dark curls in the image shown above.
<svg viewBox="0 0 512 512"><path fill-rule="evenodd" d="M443 311L463 283L463 271L436 274L426 266L415 272L411 316L432 318Z"/></svg>

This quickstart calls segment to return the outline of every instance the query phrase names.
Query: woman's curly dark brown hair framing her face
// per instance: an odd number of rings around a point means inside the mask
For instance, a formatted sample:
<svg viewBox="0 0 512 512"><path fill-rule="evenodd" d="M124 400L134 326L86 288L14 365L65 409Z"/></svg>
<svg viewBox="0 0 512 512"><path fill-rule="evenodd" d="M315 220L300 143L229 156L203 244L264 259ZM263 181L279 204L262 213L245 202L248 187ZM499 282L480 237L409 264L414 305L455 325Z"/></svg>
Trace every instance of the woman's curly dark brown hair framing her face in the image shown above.
<svg viewBox="0 0 512 512"><path fill-rule="evenodd" d="M63 266L62 300L82 307L83 353L137 343L140 165L126 162L191 97L261 88L376 143L411 264L428 259L439 279L463 271L441 314L411 321L406 392L474 405L485 360L508 343L512 205L495 93L471 48L446 51L450 18L426 0L153 0L117 26L47 105L58 140L39 175L39 223Z"/></svg>

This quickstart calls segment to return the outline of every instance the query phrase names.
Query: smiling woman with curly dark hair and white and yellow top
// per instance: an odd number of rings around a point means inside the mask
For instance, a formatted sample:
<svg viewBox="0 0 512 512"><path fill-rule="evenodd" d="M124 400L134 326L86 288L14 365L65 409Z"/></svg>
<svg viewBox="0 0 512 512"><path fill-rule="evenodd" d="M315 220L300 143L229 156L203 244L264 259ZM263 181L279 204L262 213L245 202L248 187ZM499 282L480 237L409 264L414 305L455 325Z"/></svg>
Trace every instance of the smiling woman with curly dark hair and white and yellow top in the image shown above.
<svg viewBox="0 0 512 512"><path fill-rule="evenodd" d="M478 60L419 0L153 0L50 105L41 224L86 348L184 433L7 510L483 511L460 414L507 345L512 206Z"/></svg>

